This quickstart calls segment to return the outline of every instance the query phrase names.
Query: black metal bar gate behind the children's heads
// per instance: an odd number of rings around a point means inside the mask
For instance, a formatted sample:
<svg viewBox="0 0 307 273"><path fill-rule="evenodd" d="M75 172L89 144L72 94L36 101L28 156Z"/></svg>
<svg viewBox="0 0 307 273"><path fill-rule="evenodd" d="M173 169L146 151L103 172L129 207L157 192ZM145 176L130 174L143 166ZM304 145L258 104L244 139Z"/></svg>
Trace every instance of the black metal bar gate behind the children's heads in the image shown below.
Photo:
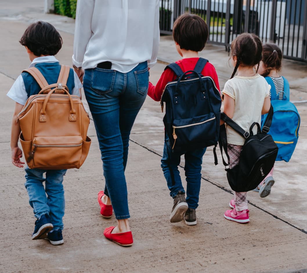
<svg viewBox="0 0 307 273"><path fill-rule="evenodd" d="M184 12L207 22L210 43L229 49L240 33L251 32L278 44L285 58L307 61L307 0L161 0L161 33L170 34Z"/></svg>

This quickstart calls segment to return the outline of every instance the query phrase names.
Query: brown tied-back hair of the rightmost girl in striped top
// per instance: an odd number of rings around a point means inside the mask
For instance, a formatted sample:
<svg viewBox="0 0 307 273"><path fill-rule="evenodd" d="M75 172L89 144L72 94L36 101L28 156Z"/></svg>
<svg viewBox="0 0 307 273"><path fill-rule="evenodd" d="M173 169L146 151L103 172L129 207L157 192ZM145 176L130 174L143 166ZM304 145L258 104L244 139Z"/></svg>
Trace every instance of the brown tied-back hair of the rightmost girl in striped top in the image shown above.
<svg viewBox="0 0 307 273"><path fill-rule="evenodd" d="M266 70L261 76L266 77L272 69L280 71L282 68L282 51L277 44L267 43L262 46L262 62Z"/></svg>

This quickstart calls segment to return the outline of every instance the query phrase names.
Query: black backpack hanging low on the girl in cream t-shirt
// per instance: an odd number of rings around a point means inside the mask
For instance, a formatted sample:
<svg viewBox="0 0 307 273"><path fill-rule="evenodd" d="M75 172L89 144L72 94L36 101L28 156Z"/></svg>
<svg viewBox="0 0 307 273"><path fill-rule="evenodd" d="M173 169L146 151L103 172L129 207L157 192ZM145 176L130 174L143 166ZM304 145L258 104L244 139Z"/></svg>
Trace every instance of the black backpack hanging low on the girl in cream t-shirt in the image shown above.
<svg viewBox="0 0 307 273"><path fill-rule="evenodd" d="M221 113L221 119L246 139L240 153L239 164L230 169L229 164L223 158L224 149L229 163L226 129L224 124L221 125L219 145L225 171L227 171L227 180L232 190L242 192L255 189L273 168L278 147L272 136L267 134L270 130L272 117L273 107L271 106L262 132L257 122L254 122L250 131L246 132L226 114ZM257 125L257 134L254 135L252 129L255 125Z"/></svg>

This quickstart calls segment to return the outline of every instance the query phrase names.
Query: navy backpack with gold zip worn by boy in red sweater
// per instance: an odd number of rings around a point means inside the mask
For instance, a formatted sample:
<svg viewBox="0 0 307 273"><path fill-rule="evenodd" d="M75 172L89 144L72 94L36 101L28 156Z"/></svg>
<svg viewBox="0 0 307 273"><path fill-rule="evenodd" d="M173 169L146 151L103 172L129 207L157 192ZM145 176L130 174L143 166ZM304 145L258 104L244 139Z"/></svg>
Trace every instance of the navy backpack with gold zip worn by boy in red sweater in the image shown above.
<svg viewBox="0 0 307 273"><path fill-rule="evenodd" d="M162 112L166 105L165 132L173 151L217 145L221 97L213 79L201 75L207 62L199 58L194 70L186 72L177 63L167 66L178 77L167 83L161 97Z"/></svg>

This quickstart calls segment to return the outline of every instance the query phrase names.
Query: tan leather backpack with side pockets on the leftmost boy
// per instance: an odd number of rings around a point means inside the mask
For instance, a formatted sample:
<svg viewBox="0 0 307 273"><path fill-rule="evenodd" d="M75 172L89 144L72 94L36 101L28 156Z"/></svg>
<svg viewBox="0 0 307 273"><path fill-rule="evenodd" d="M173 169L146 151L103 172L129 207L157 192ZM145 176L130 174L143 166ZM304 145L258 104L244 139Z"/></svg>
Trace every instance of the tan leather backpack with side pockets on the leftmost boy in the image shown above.
<svg viewBox="0 0 307 273"><path fill-rule="evenodd" d="M81 99L68 92L69 70L62 65L57 83L50 85L37 68L24 70L41 87L37 95L28 98L17 120L30 169L79 169L86 159L91 144L87 136L90 118Z"/></svg>

